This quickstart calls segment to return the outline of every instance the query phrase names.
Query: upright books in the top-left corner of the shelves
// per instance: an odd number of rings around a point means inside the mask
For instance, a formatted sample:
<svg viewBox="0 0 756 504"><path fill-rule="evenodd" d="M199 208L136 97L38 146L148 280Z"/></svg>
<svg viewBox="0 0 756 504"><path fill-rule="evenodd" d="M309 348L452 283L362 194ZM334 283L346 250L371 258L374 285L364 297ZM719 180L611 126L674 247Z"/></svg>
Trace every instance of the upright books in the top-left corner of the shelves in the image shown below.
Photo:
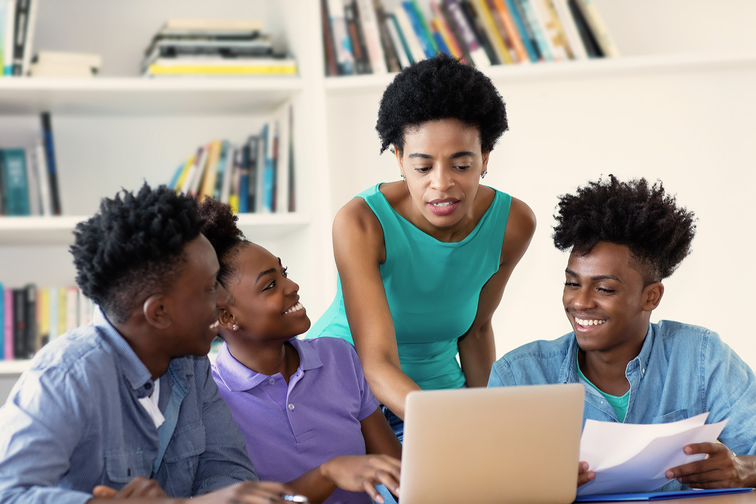
<svg viewBox="0 0 756 504"><path fill-rule="evenodd" d="M38 7L39 0L0 0L0 75L28 75Z"/></svg>

